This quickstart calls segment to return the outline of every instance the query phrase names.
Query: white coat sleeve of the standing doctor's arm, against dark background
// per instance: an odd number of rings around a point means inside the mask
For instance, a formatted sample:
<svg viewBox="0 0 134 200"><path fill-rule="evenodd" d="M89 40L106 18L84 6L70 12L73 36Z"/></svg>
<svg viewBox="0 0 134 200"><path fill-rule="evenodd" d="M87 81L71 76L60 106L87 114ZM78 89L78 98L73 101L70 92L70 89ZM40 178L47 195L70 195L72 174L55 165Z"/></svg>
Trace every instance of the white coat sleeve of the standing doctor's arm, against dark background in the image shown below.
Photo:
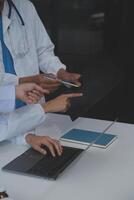
<svg viewBox="0 0 134 200"><path fill-rule="evenodd" d="M66 66L54 55L54 45L34 7L33 22L40 70L44 73L56 74L60 68L66 69Z"/></svg>

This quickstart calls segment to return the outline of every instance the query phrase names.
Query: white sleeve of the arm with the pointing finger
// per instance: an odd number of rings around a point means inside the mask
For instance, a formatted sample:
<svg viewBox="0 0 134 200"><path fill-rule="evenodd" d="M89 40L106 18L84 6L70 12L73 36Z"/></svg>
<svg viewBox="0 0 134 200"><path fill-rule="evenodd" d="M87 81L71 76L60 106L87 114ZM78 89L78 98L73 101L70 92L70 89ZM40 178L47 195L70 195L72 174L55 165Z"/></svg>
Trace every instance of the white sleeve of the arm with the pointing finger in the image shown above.
<svg viewBox="0 0 134 200"><path fill-rule="evenodd" d="M27 105L12 113L0 115L0 141L23 136L45 121L40 104Z"/></svg>

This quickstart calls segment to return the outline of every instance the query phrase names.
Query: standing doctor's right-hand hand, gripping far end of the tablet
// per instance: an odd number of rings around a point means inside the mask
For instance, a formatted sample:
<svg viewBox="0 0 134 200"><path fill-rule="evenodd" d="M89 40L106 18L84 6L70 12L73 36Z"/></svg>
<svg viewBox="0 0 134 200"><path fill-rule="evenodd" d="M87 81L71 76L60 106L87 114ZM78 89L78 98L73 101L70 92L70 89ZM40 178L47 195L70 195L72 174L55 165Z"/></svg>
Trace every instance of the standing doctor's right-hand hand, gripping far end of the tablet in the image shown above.
<svg viewBox="0 0 134 200"><path fill-rule="evenodd" d="M60 69L57 73L57 78L65 81L70 81L78 86L81 86L81 83L79 81L81 75L77 73L70 73L65 71L64 69Z"/></svg>

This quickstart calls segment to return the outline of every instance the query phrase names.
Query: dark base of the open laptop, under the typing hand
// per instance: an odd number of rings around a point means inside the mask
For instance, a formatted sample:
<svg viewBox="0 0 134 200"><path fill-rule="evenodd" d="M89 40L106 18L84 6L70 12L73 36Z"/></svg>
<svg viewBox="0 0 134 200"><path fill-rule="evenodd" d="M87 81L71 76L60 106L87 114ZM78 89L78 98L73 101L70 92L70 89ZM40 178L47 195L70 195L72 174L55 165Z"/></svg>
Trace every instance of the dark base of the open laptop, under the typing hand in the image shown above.
<svg viewBox="0 0 134 200"><path fill-rule="evenodd" d="M8 172L57 179L83 151L83 149L63 146L63 154L52 157L48 150L47 155L42 155L30 148L2 169Z"/></svg>

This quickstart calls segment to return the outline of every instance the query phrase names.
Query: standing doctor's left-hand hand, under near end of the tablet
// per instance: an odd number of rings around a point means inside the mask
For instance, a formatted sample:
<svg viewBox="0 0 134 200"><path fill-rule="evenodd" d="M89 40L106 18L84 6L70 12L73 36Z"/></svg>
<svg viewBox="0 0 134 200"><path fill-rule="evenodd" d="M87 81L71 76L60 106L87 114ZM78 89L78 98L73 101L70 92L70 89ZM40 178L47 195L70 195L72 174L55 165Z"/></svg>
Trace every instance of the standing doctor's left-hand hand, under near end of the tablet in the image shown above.
<svg viewBox="0 0 134 200"><path fill-rule="evenodd" d="M35 76L22 77L19 79L19 83L36 83L42 88L47 89L49 92L54 92L60 86L60 82L55 78L54 80L49 80L44 74L39 74Z"/></svg>

